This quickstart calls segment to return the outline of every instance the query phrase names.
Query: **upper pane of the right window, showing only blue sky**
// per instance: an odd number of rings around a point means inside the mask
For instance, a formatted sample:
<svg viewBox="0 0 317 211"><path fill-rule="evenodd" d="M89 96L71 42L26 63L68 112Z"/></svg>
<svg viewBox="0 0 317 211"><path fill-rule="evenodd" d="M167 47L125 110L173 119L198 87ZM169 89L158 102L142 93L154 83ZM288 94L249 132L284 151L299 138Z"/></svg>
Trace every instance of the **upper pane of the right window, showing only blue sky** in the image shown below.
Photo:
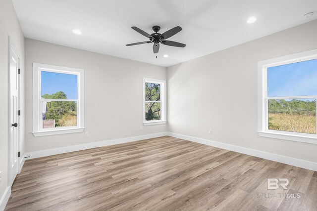
<svg viewBox="0 0 317 211"><path fill-rule="evenodd" d="M317 59L267 68L267 96L317 95Z"/></svg>

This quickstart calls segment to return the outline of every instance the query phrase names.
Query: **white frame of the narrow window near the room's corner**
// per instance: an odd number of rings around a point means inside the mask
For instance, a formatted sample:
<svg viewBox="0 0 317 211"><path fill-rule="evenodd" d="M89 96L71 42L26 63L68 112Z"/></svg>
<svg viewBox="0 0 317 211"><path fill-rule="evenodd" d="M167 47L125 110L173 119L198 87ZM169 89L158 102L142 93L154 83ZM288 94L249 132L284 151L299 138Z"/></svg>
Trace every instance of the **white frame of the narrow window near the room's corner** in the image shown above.
<svg viewBox="0 0 317 211"><path fill-rule="evenodd" d="M153 102L160 102L160 120L147 121L145 119L145 102L149 102L145 100L145 84L146 83L160 84L160 101L153 101ZM158 79L143 78L143 125L150 126L150 125L159 125L159 124L165 124L165 123L166 123L166 81L158 80Z"/></svg>

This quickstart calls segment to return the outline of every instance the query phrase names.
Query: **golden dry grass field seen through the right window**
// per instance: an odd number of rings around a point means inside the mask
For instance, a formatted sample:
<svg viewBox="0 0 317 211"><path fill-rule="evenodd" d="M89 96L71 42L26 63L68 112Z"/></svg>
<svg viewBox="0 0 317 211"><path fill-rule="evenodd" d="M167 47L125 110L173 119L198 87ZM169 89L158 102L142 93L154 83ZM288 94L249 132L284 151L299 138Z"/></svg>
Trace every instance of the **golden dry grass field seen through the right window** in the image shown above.
<svg viewBox="0 0 317 211"><path fill-rule="evenodd" d="M268 114L269 129L316 134L316 116L299 114Z"/></svg>

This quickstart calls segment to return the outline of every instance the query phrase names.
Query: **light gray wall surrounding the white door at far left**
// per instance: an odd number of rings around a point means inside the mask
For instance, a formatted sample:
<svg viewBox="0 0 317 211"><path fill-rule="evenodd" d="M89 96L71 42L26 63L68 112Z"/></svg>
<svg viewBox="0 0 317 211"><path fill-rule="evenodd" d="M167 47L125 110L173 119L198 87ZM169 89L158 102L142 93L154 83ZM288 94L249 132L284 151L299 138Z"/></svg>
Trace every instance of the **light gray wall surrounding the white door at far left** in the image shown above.
<svg viewBox="0 0 317 211"><path fill-rule="evenodd" d="M9 102L8 102L8 36L11 37L20 54L21 96L20 96L20 152L24 155L24 36L11 0L0 0L0 199L8 187L8 151L9 151ZM22 158L21 156L21 158Z"/></svg>

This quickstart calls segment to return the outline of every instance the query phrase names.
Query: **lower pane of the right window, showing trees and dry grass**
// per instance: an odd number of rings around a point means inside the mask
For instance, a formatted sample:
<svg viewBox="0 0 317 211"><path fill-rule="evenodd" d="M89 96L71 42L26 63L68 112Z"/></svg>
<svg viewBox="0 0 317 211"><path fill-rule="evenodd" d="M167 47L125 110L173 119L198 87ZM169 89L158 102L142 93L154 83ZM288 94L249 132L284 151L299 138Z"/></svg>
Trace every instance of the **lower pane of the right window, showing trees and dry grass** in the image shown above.
<svg viewBox="0 0 317 211"><path fill-rule="evenodd" d="M268 129L316 134L316 99L268 100Z"/></svg>

